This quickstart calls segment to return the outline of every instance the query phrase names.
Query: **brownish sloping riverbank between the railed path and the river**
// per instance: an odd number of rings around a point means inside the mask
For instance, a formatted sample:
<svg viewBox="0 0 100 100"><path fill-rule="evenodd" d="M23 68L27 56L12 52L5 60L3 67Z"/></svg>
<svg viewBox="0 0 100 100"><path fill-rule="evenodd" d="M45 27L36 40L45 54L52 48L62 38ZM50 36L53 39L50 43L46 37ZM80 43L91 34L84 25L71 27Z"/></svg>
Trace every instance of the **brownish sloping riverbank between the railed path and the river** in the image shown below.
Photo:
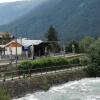
<svg viewBox="0 0 100 100"><path fill-rule="evenodd" d="M76 69L7 81L0 85L4 85L7 88L12 98L18 98L27 93L33 93L42 90L47 91L54 85L59 85L68 81L79 80L86 77L88 77L88 75L84 69Z"/></svg>

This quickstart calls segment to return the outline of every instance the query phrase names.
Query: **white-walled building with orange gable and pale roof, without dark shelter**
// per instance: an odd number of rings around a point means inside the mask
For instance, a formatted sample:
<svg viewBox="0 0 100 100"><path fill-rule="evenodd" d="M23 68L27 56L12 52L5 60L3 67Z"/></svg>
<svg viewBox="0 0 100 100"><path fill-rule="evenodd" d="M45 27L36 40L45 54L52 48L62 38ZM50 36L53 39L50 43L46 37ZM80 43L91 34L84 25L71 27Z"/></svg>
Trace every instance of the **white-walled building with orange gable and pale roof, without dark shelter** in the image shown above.
<svg viewBox="0 0 100 100"><path fill-rule="evenodd" d="M33 51L34 53L34 46L37 46L39 44L43 43L42 40L29 40L29 39L17 39L9 42L5 45L5 55L22 55L22 53L28 54L29 50Z"/></svg>

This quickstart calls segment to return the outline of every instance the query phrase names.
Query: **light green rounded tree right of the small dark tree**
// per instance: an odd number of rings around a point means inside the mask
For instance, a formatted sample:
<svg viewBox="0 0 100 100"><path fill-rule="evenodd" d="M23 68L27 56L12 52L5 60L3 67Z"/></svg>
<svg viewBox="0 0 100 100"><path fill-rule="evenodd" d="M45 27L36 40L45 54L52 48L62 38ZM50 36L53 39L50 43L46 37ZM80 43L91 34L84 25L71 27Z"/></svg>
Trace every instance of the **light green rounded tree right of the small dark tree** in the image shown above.
<svg viewBox="0 0 100 100"><path fill-rule="evenodd" d="M94 42L94 38L87 36L79 43L80 52L86 52L90 45Z"/></svg>

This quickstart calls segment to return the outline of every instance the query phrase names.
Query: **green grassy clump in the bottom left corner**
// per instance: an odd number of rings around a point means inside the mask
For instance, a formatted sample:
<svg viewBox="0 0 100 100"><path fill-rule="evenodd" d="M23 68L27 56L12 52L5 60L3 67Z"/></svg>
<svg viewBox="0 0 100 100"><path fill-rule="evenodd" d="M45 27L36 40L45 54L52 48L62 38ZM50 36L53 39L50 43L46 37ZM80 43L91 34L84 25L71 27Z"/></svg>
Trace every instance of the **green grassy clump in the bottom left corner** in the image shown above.
<svg viewBox="0 0 100 100"><path fill-rule="evenodd" d="M8 91L4 87L0 87L0 100L11 100Z"/></svg>

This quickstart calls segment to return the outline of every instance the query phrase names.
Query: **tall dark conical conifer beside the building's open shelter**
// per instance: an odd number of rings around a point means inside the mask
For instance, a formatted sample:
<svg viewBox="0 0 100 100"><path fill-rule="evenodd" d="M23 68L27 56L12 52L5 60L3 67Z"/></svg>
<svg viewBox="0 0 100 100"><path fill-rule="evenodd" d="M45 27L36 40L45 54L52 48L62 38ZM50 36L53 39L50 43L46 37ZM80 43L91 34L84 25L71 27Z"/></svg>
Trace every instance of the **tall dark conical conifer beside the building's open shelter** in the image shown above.
<svg viewBox="0 0 100 100"><path fill-rule="evenodd" d="M53 26L50 26L45 35L47 42L50 44L49 49L53 52L59 52L61 49L58 32Z"/></svg>

